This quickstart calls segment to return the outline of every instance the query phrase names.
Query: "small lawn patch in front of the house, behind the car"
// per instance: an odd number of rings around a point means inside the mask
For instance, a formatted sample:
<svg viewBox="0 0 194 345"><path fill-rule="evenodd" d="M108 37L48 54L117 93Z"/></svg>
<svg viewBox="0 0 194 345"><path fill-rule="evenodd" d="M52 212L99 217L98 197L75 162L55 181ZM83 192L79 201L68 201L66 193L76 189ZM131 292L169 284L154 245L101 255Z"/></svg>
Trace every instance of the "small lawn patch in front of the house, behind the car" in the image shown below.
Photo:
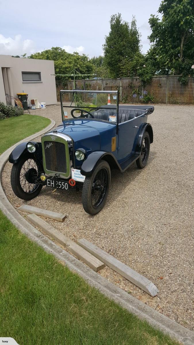
<svg viewBox="0 0 194 345"><path fill-rule="evenodd" d="M0 154L23 138L47 127L50 120L31 114L0 120Z"/></svg>

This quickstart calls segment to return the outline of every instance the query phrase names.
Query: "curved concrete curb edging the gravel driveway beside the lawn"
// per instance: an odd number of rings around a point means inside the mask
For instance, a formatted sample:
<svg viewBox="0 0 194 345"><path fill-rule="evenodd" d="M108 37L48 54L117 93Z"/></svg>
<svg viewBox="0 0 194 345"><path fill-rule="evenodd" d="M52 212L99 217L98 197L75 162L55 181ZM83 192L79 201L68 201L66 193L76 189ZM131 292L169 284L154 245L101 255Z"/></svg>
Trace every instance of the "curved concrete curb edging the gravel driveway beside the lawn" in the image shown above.
<svg viewBox="0 0 194 345"><path fill-rule="evenodd" d="M55 126L55 121L51 120L51 124L44 130L19 141L17 144L10 147L3 152L0 156L0 176L2 169L8 161L9 155L14 147L20 142L30 141L36 137L46 133L52 127ZM135 297L127 294L124 290L120 289L116 285L110 283L105 278L94 272L91 268L84 265L81 261L74 258L72 255L61 249L54 242L49 240L40 231L33 227L26 219L24 219L18 211L11 205L3 191L0 181L0 209L9 218L9 220L25 234L28 238L35 241L39 246L45 249L48 253L55 255L59 260L62 260L71 271L76 272L83 277L86 282L97 288L101 293L110 299L113 299L116 303L127 309L130 313L137 315L139 318L146 320L149 324L155 328L160 329L162 332L169 334L171 337L186 345L194 345L194 333L189 329L177 324L169 319L167 316L155 311L151 307L148 307L143 302L139 301Z"/></svg>

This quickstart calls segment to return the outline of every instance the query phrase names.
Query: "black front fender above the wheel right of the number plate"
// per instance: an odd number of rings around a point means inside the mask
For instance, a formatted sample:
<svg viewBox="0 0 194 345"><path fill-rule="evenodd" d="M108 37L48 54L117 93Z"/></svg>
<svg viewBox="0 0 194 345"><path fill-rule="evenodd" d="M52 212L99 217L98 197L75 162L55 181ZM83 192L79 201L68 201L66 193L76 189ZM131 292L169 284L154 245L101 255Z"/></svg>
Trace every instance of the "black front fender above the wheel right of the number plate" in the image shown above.
<svg viewBox="0 0 194 345"><path fill-rule="evenodd" d="M115 156L111 152L95 151L90 153L90 155L83 162L80 169L81 174L84 176L90 176L101 159L106 160L110 167L118 167L121 170Z"/></svg>

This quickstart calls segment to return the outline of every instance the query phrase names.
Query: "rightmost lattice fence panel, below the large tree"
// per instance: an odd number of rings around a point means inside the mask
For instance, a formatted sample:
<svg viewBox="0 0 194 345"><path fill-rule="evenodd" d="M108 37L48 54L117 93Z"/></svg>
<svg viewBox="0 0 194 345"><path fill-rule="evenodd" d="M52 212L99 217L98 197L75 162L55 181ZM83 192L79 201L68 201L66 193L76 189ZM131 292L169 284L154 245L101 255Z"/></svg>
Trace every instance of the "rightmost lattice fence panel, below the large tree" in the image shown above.
<svg viewBox="0 0 194 345"><path fill-rule="evenodd" d="M168 103L194 103L194 77L182 85L178 76L169 76Z"/></svg>

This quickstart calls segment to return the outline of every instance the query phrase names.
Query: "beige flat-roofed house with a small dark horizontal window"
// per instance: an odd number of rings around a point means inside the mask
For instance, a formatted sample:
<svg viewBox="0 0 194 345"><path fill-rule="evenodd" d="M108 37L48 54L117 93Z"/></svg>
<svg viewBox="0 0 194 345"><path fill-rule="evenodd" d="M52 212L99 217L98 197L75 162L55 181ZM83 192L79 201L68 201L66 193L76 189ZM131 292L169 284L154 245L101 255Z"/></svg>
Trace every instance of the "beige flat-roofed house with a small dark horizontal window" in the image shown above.
<svg viewBox="0 0 194 345"><path fill-rule="evenodd" d="M28 99L38 99L47 105L57 103L54 61L12 58L0 55L0 101L6 104L6 93L28 93ZM14 100L12 100L14 105Z"/></svg>

